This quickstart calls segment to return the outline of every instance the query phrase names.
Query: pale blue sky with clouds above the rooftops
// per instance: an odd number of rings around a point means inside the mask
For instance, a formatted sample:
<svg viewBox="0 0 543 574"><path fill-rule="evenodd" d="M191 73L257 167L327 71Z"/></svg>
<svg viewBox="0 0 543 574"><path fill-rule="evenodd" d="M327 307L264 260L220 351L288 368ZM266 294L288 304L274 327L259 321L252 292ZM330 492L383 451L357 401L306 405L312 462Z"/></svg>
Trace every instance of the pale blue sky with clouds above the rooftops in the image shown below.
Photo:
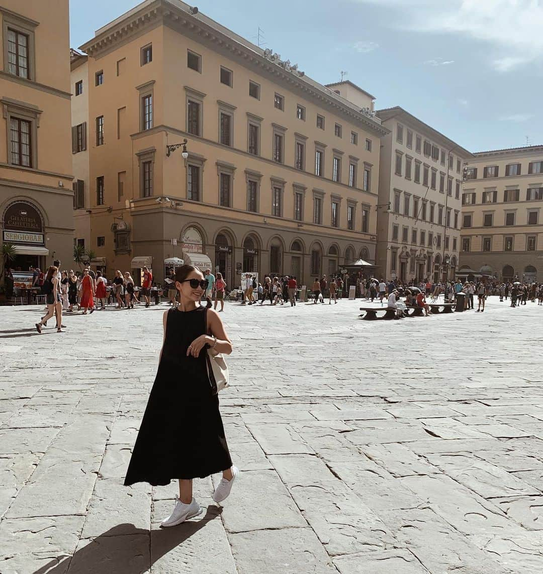
<svg viewBox="0 0 543 574"><path fill-rule="evenodd" d="M543 0L194 0L322 84L341 71L470 152L543 144ZM136 0L70 0L78 48Z"/></svg>

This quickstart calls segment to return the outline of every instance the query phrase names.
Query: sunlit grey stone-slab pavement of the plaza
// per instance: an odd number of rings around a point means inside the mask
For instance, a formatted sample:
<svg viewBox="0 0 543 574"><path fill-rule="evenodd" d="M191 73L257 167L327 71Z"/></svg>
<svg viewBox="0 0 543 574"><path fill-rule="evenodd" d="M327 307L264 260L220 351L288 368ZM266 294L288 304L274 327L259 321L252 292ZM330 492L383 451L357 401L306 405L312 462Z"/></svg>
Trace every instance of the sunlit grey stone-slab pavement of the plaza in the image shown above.
<svg viewBox="0 0 543 574"><path fill-rule="evenodd" d="M226 305L240 478L222 509L195 481L205 512L164 530L177 484L122 480L165 305L41 336L0 308L0 571L541 574L543 307L359 307Z"/></svg>

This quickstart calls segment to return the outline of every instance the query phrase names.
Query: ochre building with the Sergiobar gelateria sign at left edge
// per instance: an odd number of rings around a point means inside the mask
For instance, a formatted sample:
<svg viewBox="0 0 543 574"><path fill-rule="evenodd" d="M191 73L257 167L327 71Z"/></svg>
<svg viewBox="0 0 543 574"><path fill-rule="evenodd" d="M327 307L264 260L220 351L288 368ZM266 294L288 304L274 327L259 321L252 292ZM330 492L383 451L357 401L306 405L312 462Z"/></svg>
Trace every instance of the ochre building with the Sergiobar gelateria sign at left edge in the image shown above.
<svg viewBox="0 0 543 574"><path fill-rule="evenodd" d="M27 272L72 259L68 0L0 6L0 243Z"/></svg>

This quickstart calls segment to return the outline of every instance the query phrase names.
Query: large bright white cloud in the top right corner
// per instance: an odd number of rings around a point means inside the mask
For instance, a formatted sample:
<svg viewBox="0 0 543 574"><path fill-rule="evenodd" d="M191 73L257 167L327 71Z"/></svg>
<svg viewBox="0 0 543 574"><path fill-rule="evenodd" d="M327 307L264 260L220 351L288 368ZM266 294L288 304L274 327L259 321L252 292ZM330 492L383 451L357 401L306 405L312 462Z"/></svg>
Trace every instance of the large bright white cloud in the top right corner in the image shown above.
<svg viewBox="0 0 543 574"><path fill-rule="evenodd" d="M389 7L397 27L421 33L467 36L493 46L490 65L509 72L520 65L543 60L543 2L541 0L414 0L425 11L413 10L405 0L352 0Z"/></svg>

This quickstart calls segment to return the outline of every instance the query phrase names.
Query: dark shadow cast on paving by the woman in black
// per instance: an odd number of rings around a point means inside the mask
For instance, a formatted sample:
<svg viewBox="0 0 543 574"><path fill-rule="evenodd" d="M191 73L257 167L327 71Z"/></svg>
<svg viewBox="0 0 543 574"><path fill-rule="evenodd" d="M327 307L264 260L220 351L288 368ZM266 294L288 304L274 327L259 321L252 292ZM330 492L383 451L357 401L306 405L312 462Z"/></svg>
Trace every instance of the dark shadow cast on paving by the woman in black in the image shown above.
<svg viewBox="0 0 543 574"><path fill-rule="evenodd" d="M144 574L164 554L221 513L221 507L210 506L200 520L151 532L133 524L120 524L76 550L74 556L64 554L52 559L33 574Z"/></svg>

